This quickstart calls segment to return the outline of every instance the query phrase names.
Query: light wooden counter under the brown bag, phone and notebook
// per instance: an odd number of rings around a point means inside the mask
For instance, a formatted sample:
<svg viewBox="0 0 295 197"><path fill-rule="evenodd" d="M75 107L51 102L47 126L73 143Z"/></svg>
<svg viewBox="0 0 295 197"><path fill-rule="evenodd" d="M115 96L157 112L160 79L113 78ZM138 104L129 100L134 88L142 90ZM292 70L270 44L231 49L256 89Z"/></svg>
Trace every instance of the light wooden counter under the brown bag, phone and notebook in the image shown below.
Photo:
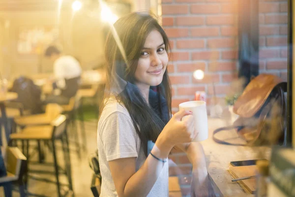
<svg viewBox="0 0 295 197"><path fill-rule="evenodd" d="M228 126L225 120L208 118L209 137L202 141L204 147L209 178L215 192L224 197L251 196L236 182L232 182L229 173L229 164L232 161L261 159L258 156L260 150L266 150L266 159L269 159L270 149L263 147L230 146L218 144L213 141L212 133L215 129ZM219 139L232 139L238 142L236 131L221 131L217 133ZM233 142L233 141L232 141ZM243 142L243 141L240 141ZM254 196L254 195L252 195Z"/></svg>

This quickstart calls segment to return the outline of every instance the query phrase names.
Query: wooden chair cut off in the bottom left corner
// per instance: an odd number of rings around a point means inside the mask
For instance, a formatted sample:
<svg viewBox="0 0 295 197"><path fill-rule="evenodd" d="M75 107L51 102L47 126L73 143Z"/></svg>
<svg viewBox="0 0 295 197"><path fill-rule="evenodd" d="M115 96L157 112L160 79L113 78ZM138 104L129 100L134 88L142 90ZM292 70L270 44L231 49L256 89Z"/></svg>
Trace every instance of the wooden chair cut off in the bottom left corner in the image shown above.
<svg viewBox="0 0 295 197"><path fill-rule="evenodd" d="M27 158L17 147L7 147L4 159L7 175L0 177L0 186L4 187L5 197L12 197L12 184L15 183L19 186L20 196L25 197Z"/></svg>

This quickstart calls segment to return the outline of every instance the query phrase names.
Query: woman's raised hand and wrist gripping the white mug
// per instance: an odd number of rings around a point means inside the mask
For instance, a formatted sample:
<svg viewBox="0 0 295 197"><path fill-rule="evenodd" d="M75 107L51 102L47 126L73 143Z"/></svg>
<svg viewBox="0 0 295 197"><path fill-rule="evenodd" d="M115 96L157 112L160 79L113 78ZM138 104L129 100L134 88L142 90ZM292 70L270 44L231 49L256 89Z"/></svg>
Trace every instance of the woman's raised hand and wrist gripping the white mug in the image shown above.
<svg viewBox="0 0 295 197"><path fill-rule="evenodd" d="M156 141L160 150L165 152L180 143L191 142L198 132L194 130L194 118L191 111L180 110L174 114Z"/></svg>

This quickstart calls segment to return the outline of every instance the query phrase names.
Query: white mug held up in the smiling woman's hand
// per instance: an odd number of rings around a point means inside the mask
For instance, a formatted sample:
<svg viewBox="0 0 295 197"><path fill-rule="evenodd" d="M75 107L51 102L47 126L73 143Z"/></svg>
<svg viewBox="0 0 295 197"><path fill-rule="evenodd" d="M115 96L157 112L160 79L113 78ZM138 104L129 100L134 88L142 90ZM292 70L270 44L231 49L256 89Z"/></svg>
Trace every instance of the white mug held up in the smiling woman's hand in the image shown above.
<svg viewBox="0 0 295 197"><path fill-rule="evenodd" d="M208 119L206 102L201 100L194 100L182 102L179 104L179 110L185 109L193 112L195 131L199 132L197 137L193 140L203 141L208 138Z"/></svg>

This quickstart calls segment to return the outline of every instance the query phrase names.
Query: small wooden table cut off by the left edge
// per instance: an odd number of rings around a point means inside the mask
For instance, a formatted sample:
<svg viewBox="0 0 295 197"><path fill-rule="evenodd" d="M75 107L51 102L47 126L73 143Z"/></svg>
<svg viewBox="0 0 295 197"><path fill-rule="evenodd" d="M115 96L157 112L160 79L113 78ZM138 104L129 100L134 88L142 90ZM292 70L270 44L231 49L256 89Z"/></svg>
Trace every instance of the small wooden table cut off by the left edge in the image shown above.
<svg viewBox="0 0 295 197"><path fill-rule="evenodd" d="M5 136L6 136L6 140L7 142L9 141L9 134L10 131L8 129L8 121L7 121L7 115L6 115L6 110L5 110L5 101L9 101L9 100L14 100L17 99L18 95L17 93L12 93L12 92L8 92L6 94L0 94L0 109L1 109L1 119L2 119L2 123L4 126L4 130L5 130ZM2 146L3 142L1 139L1 133L0 133L0 146Z"/></svg>

